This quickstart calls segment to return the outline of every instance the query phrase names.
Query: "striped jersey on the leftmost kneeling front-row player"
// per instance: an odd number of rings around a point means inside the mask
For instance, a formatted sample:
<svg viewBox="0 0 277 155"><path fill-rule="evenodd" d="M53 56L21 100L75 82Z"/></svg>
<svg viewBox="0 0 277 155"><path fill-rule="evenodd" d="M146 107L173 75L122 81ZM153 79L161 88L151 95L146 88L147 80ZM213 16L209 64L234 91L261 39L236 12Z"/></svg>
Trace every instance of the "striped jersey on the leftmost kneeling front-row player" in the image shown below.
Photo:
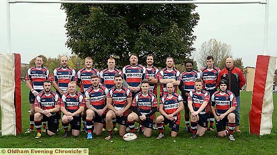
<svg viewBox="0 0 277 155"><path fill-rule="evenodd" d="M50 91L50 94L45 94L44 91L38 93L35 99L35 107L40 107L42 110L53 109L55 105L60 105L60 97L57 93Z"/></svg>

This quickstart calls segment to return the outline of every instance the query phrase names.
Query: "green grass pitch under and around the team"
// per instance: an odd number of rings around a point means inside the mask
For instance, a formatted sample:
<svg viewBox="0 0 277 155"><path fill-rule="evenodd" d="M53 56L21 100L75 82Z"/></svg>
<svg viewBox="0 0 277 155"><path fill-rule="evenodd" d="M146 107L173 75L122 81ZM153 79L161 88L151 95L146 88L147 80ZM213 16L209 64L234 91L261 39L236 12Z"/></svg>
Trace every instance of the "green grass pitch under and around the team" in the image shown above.
<svg viewBox="0 0 277 155"><path fill-rule="evenodd" d="M182 117L180 131L177 137L170 137L170 129L166 127L165 138L156 139L158 131L152 137L144 137L137 133L135 141L126 142L114 132L113 142L105 140L107 132L86 139L86 133L79 137L70 135L62 138L63 129L57 135L49 137L45 133L42 138L35 139L36 132L25 134L29 128L28 88L22 84L22 127L23 133L18 136L0 136L0 148L28 148L28 147L84 147L89 148L90 154L276 154L277 153L277 93L273 94L274 112L272 116L273 128L270 135L257 136L249 134L248 112L251 105L251 92L241 92L241 133L234 133L236 141L229 141L228 137L220 138L216 131L207 131L203 137L190 139L190 133L183 132L184 118ZM215 125L214 125L215 126ZM60 125L61 127L61 125Z"/></svg>

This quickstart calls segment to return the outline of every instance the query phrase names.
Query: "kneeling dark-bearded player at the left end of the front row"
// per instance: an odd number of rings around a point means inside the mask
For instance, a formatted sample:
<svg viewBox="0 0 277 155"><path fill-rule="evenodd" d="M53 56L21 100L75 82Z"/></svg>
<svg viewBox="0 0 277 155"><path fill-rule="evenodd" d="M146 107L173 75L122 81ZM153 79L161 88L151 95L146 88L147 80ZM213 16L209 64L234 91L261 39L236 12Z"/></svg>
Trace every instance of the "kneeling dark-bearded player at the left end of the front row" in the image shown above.
<svg viewBox="0 0 277 155"><path fill-rule="evenodd" d="M35 99L35 126L37 135L41 137L41 120L47 121L48 135L54 135L57 132L58 112L60 111L60 97L51 90L51 81L43 82L43 91L39 92Z"/></svg>

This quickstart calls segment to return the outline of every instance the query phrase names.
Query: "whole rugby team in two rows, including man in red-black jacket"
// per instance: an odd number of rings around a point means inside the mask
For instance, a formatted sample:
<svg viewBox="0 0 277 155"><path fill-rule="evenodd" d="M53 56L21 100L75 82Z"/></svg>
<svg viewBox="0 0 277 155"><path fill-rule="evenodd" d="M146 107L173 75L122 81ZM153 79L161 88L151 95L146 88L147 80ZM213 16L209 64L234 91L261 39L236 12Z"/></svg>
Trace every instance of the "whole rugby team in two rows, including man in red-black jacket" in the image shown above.
<svg viewBox="0 0 277 155"><path fill-rule="evenodd" d="M228 136L234 141L234 131L241 132L240 89L245 78L242 71L234 67L232 58L227 58L226 68L220 70L214 66L213 56L207 56L206 67L200 72L193 70L193 61L186 60L183 73L174 67L172 57L165 60L166 67L160 71L153 66L153 55L147 56L145 67L137 64L136 54L131 54L129 61L130 65L120 71L115 68L115 59L109 58L108 68L99 72L93 68L93 59L87 57L85 67L76 73L63 56L61 66L50 75L43 67L42 57L36 57L36 66L29 68L26 75L31 112L30 128L25 133L33 132L35 127L35 138L45 132L54 135L59 131L61 119L63 137L69 133L78 136L80 131L86 131L87 139L92 139L93 134L106 130L107 140L117 130L119 136L137 130L150 137L156 129L159 130L157 139L160 139L164 137L166 124L171 128L171 136L177 136L183 109L184 131L191 132L191 139L202 136L206 130L214 131L214 119L219 136ZM181 94L177 93L178 88ZM157 112L160 112L158 117ZM84 128L81 129L82 122ZM139 124L137 129L135 122Z"/></svg>

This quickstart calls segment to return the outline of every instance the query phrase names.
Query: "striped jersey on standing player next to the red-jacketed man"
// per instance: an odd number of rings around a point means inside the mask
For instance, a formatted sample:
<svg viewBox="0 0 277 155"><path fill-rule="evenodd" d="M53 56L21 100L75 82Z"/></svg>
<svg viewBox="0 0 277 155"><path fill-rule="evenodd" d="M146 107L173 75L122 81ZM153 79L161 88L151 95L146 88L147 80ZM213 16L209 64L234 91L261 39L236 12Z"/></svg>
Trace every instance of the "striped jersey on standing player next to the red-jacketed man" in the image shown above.
<svg viewBox="0 0 277 155"><path fill-rule="evenodd" d="M203 79L203 89L204 90L214 90L216 88L218 74L220 69L218 67L213 67L212 69L208 69L207 67L203 67L200 71L200 76Z"/></svg>

